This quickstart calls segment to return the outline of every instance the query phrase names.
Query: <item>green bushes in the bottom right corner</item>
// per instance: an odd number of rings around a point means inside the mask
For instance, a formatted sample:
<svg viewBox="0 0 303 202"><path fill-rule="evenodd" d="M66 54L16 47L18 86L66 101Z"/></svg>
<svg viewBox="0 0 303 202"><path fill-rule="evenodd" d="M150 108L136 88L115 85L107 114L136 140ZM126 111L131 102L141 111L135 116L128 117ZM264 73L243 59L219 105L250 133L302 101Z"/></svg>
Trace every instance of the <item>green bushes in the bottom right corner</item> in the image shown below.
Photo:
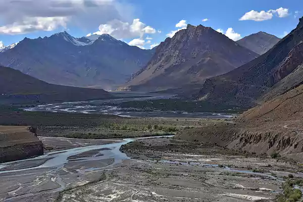
<svg viewBox="0 0 303 202"><path fill-rule="evenodd" d="M283 183L283 193L279 194L277 197L278 202L294 202L298 201L301 196L302 192L300 189L293 188L294 185L302 184L302 179L297 179L295 181L286 180Z"/></svg>

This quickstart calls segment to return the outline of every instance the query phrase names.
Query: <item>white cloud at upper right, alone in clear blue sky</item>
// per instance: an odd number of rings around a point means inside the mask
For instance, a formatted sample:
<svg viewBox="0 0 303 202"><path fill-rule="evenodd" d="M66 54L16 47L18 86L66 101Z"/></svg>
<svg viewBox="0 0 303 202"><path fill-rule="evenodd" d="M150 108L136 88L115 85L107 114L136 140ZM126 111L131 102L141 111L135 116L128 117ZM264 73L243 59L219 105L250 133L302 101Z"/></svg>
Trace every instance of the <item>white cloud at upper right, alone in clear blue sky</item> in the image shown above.
<svg viewBox="0 0 303 202"><path fill-rule="evenodd" d="M271 20L273 18L273 14L276 14L279 18L285 18L287 17L288 14L288 9L285 8L279 8L276 10L269 10L269 11L254 11L251 10L247 13L245 13L239 20L243 21L243 20L253 20L253 21L265 21L265 20Z"/></svg>

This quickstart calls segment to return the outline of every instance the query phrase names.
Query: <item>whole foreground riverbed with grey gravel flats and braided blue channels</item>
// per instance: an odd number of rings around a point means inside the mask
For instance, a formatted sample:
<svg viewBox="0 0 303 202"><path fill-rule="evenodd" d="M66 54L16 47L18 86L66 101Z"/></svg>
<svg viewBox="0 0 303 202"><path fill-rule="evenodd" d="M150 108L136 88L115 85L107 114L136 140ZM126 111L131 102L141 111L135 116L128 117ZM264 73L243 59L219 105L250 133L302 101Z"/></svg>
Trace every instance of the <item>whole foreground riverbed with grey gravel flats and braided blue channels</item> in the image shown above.
<svg viewBox="0 0 303 202"><path fill-rule="evenodd" d="M0 165L1 200L273 200L289 174L302 175L288 162L167 137L41 140L58 150Z"/></svg>

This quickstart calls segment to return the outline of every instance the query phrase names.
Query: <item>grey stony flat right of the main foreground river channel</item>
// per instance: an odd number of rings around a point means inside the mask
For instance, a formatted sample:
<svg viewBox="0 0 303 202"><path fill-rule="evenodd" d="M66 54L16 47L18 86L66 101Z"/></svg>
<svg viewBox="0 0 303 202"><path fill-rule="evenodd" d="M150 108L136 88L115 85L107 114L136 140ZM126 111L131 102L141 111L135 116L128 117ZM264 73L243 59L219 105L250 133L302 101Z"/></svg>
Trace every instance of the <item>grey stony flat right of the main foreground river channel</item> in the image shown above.
<svg viewBox="0 0 303 202"><path fill-rule="evenodd" d="M274 201L289 174L302 175L289 162L211 143L156 138L121 150L132 160L99 182L61 192L59 201Z"/></svg>

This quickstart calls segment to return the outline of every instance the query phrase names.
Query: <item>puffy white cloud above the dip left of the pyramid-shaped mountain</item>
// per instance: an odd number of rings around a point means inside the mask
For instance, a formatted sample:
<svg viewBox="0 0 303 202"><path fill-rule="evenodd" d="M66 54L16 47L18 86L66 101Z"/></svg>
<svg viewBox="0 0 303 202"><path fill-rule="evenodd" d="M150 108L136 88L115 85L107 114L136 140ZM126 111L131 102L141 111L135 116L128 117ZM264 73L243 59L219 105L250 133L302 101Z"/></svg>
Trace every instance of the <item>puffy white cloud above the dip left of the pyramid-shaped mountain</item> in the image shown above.
<svg viewBox="0 0 303 202"><path fill-rule="evenodd" d="M93 34L110 34L115 38L142 38L145 33L154 34L156 30L153 27L146 26L140 19L134 19L132 24L115 19L107 22L107 24L99 25L99 31Z"/></svg>

